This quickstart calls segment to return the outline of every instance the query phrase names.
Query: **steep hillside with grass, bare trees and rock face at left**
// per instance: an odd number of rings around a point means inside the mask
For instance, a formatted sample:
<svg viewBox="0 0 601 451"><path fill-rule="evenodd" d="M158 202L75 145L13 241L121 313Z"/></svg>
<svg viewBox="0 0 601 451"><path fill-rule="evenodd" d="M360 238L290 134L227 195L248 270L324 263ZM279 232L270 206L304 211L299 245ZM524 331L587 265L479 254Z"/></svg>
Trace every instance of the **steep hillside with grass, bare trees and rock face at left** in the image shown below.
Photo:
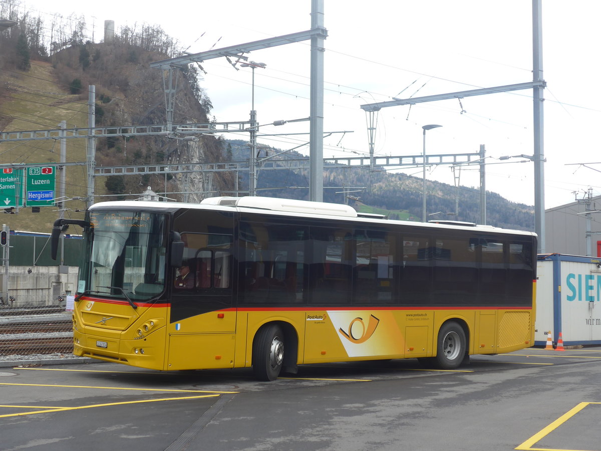
<svg viewBox="0 0 601 451"><path fill-rule="evenodd" d="M17 18L18 19L18 18ZM49 52L41 47L29 28L9 29L0 34L0 127L3 131L57 129L61 120L67 128L88 126L88 85L96 88L96 126L164 124L165 96L162 73L148 64L171 56L172 41L160 28L145 26L137 34L124 30L110 44L91 43L73 35L66 44ZM9 34L10 32L10 34ZM23 35L28 47L23 50ZM53 43L56 44L56 43ZM25 52L26 58L23 56ZM192 68L178 73L175 123L208 122L211 105ZM86 161L86 139L70 138L67 163ZM58 140L0 143L0 164L55 163L59 161ZM198 142L183 142L157 136L123 136L96 139L96 166L219 161L222 143L203 136ZM86 207L87 173L84 165L66 168L65 217L80 218ZM58 180L58 177L57 177ZM95 177L94 202L136 198L147 186L168 193L203 192L202 174ZM233 185L233 176L213 177L216 189ZM227 185L227 186L226 186ZM58 186L57 186L58 191ZM0 197L2 196L0 189ZM56 194L58 196L58 194ZM182 194L169 194L186 200ZM84 198L80 200L80 198ZM188 197L198 201L198 195ZM58 216L54 206L30 207L18 214L4 215L2 223L12 230L49 232Z"/></svg>

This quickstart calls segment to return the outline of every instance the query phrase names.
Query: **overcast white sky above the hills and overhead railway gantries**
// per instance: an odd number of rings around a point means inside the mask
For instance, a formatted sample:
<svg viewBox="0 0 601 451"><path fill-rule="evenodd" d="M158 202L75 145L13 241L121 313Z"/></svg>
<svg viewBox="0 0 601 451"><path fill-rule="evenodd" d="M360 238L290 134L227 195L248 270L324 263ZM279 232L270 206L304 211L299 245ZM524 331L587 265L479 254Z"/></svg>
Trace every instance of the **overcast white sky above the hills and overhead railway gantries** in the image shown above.
<svg viewBox="0 0 601 451"><path fill-rule="evenodd" d="M5 0L0 0L5 2ZM46 14L84 14L103 35L104 20L115 28L160 25L182 50L203 52L311 28L311 1L230 0L224 2L81 2L30 0L23 5ZM89 6L88 6L89 5ZM601 43L599 0L543 0L545 89L545 204L554 207L601 194L597 88ZM532 81L531 0L325 0L325 156L368 155L365 103L451 93ZM308 41L255 51L255 109L260 123L309 115ZM201 87L213 103L216 121L248 120L251 70L234 69L224 58L202 64ZM505 155L532 155L532 90L383 108L377 115L376 155L418 155L425 124L427 153L487 150L487 190L516 202L534 203L532 162L507 163ZM263 133L308 132L308 122L261 127ZM248 140L248 135L227 138ZM308 135L260 137L272 147L291 149ZM308 155L307 146L298 149ZM463 168L460 183L478 186L478 172ZM421 168L401 172L421 177ZM427 172L430 180L453 185L448 166ZM575 194L579 193L579 194Z"/></svg>

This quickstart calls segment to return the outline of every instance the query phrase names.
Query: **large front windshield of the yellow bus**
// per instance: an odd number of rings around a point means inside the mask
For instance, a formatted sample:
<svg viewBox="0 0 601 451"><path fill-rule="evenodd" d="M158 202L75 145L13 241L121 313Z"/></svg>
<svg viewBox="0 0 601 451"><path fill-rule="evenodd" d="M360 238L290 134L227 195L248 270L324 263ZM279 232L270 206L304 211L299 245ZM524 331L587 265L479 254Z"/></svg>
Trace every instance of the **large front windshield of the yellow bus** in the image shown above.
<svg viewBox="0 0 601 451"><path fill-rule="evenodd" d="M166 216L139 211L91 211L78 293L128 302L165 289Z"/></svg>

